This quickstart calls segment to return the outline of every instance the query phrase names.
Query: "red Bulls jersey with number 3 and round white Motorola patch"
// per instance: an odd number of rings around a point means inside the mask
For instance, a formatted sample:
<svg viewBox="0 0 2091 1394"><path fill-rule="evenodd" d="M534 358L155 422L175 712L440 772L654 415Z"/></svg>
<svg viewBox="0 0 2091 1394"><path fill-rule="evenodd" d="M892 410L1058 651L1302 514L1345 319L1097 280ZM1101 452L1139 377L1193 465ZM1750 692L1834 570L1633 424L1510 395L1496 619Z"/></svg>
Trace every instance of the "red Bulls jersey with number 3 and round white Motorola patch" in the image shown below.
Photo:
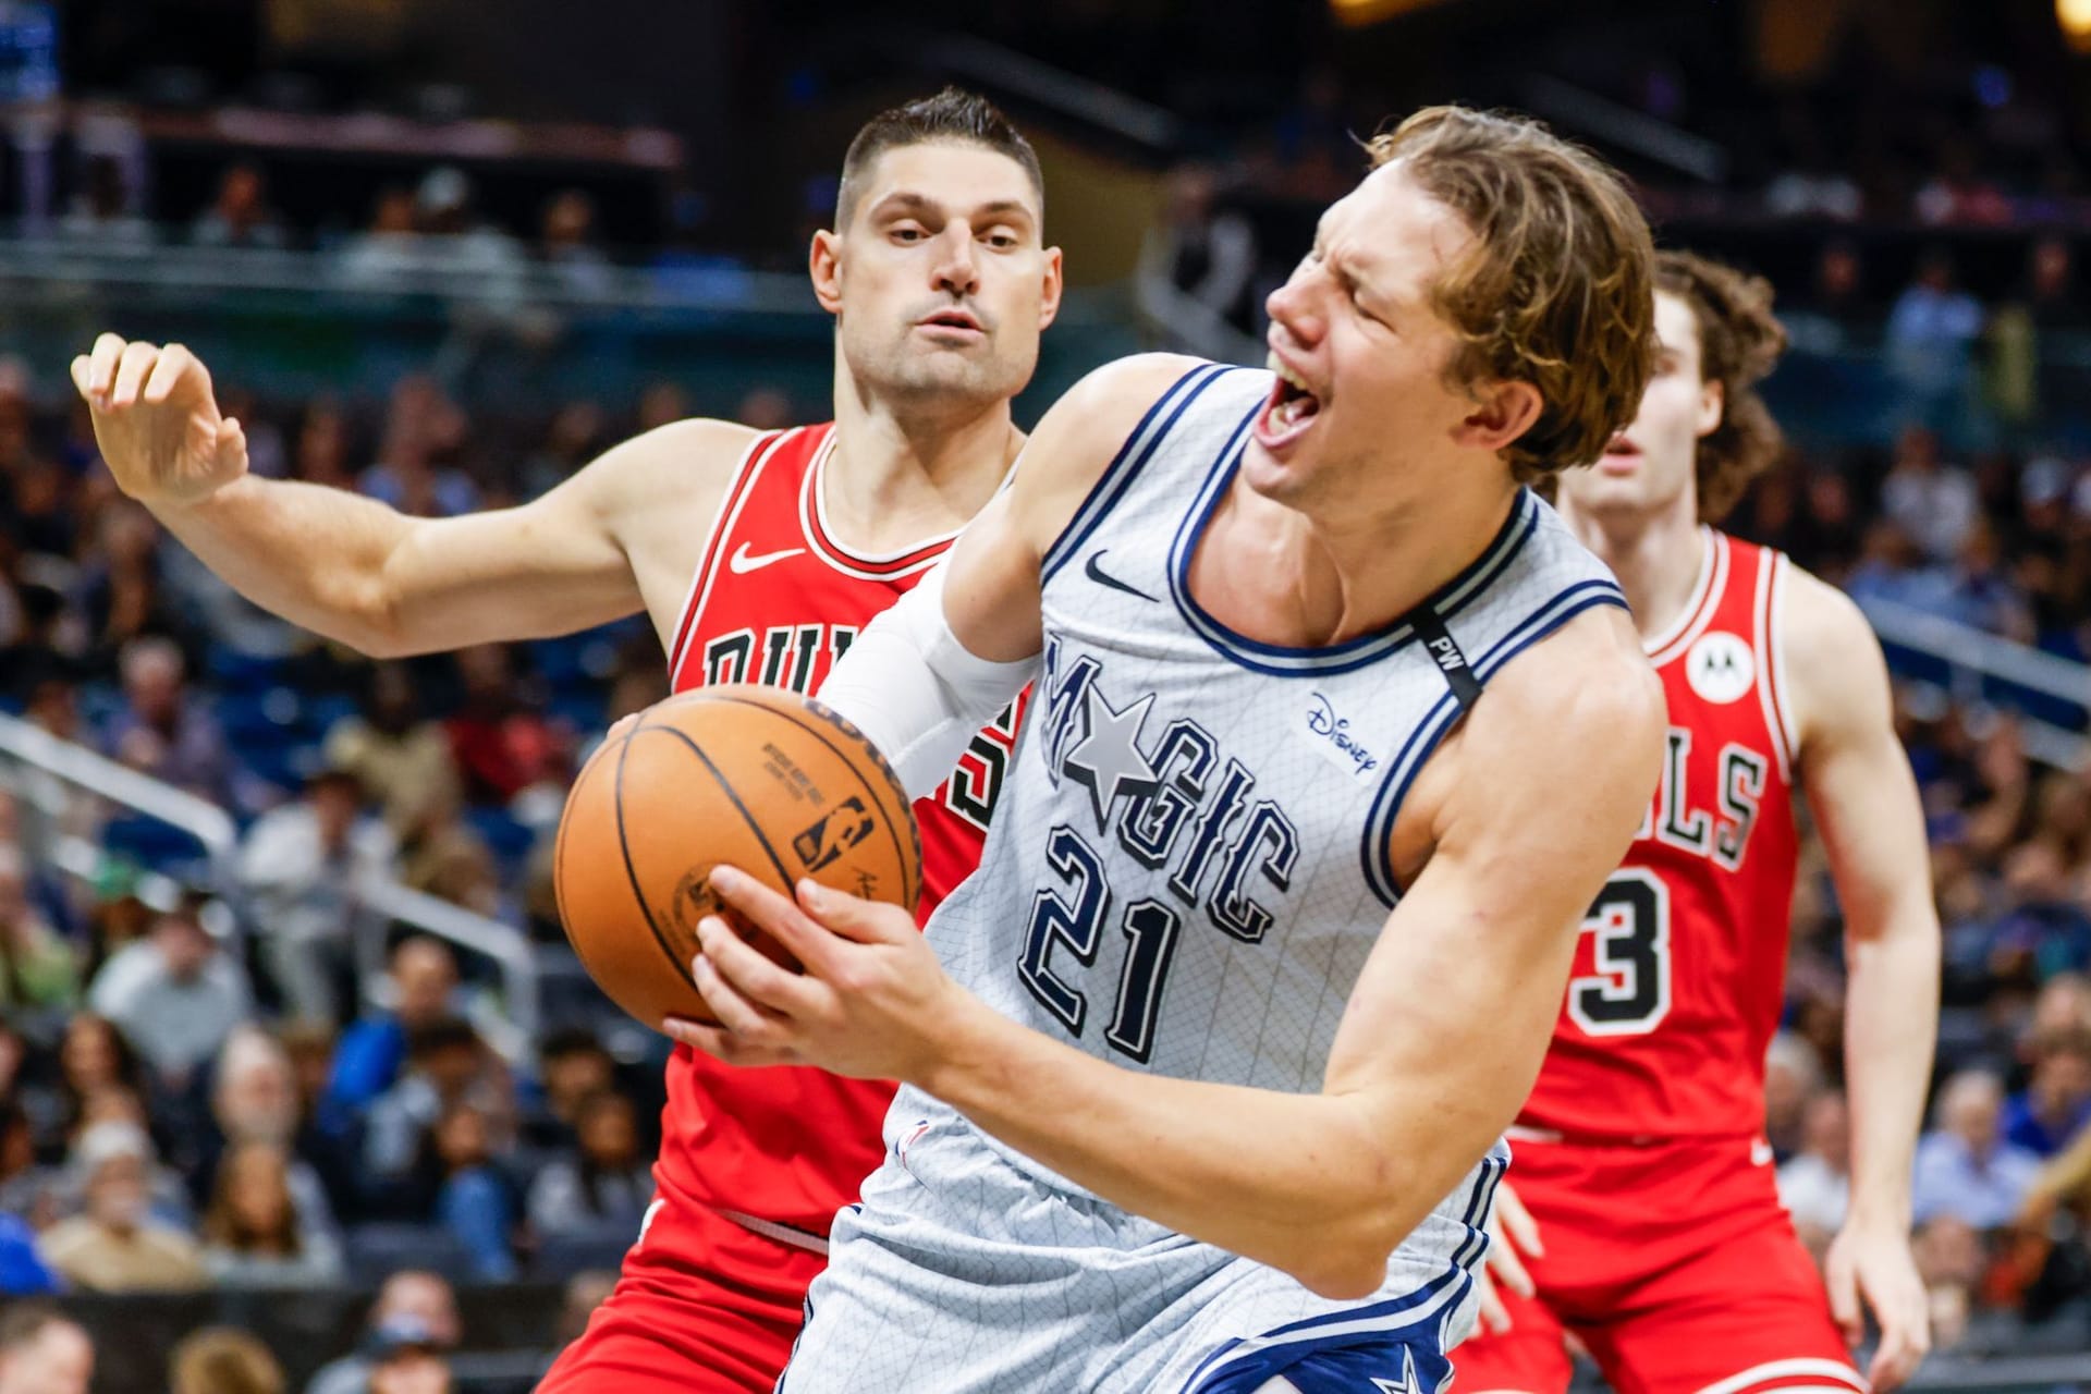
<svg viewBox="0 0 2091 1394"><path fill-rule="evenodd" d="M1669 698L1662 782L1583 920L1526 1129L1648 1141L1765 1126L1798 853L1773 629L1792 564L1702 539L1694 602L1648 642Z"/></svg>

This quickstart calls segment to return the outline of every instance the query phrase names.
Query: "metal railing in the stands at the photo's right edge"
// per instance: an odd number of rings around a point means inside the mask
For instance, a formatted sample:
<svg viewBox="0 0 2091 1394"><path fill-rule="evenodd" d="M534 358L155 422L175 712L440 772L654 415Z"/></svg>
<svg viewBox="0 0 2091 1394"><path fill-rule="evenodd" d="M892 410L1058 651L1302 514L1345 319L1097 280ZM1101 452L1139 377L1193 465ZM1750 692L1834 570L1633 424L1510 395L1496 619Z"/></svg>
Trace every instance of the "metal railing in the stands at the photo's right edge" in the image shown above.
<svg viewBox="0 0 2091 1394"><path fill-rule="evenodd" d="M1861 600L1859 608L1899 677L1959 704L2012 708L2026 754L2043 765L2091 763L2091 667L1890 600Z"/></svg>

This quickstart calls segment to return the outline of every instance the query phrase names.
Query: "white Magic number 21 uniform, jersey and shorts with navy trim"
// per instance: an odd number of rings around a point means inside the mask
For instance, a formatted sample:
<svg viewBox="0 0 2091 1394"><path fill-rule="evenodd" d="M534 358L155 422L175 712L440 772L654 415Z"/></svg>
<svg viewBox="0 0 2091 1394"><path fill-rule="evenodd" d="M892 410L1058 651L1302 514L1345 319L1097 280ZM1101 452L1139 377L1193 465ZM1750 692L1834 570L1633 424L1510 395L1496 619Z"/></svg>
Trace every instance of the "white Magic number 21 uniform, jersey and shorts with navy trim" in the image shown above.
<svg viewBox="0 0 2091 1394"><path fill-rule="evenodd" d="M1230 631L1186 577L1269 385L1181 378L1048 554L1014 771L928 936L958 982L1092 1055L1307 1093L1401 895L1388 846L1418 769L1503 663L1625 598L1520 493L1466 571L1378 633L1278 648ZM1340 1304L1108 1206L916 1089L887 1141L836 1225L788 1394L1309 1388L1332 1342L1411 1379L1384 1388L1434 1388L1506 1160L1418 1227L1378 1298Z"/></svg>

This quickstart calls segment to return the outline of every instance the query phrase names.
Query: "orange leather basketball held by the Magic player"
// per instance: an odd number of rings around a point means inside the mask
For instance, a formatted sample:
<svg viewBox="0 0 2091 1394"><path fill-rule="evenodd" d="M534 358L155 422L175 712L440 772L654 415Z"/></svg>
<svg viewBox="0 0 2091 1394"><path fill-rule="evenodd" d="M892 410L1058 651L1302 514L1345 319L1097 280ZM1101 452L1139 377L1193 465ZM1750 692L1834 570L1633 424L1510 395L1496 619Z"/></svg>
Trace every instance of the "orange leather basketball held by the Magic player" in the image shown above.
<svg viewBox="0 0 2091 1394"><path fill-rule="evenodd" d="M719 863L784 895L801 876L914 909L922 838L907 794L857 727L820 702L730 683L673 696L581 767L552 878L581 966L659 1026L713 1020L690 982L696 924L719 911ZM772 959L782 945L742 930Z"/></svg>

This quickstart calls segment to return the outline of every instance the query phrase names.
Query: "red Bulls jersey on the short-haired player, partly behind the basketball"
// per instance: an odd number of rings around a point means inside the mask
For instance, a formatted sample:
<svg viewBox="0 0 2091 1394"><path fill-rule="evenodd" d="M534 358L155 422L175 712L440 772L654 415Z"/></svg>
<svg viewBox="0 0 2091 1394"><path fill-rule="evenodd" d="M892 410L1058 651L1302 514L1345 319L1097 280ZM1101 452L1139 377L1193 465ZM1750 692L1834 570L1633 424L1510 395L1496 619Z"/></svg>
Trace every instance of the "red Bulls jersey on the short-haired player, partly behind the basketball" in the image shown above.
<svg viewBox="0 0 2091 1394"><path fill-rule="evenodd" d="M893 556L861 556L836 541L820 483L832 454L832 422L769 433L749 447L675 629L675 692L734 681L813 692L864 625L951 545L935 537ZM983 729L951 780L914 807L922 922L981 863L1020 704ZM738 1070L677 1045L654 1179L673 1200L826 1235L878 1168L893 1089L801 1066Z"/></svg>

